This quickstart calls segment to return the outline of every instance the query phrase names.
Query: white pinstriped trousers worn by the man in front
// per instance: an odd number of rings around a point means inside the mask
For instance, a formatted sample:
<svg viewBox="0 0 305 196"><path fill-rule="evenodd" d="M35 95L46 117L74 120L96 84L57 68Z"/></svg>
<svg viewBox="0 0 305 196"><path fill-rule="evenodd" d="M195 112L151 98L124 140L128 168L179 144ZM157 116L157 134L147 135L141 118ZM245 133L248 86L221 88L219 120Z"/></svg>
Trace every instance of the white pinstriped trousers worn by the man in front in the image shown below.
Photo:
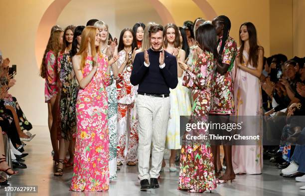
<svg viewBox="0 0 305 196"><path fill-rule="evenodd" d="M139 172L140 180L158 178L164 154L167 124L169 120L169 97L137 97L138 132L139 132ZM152 144L152 168L150 152Z"/></svg>

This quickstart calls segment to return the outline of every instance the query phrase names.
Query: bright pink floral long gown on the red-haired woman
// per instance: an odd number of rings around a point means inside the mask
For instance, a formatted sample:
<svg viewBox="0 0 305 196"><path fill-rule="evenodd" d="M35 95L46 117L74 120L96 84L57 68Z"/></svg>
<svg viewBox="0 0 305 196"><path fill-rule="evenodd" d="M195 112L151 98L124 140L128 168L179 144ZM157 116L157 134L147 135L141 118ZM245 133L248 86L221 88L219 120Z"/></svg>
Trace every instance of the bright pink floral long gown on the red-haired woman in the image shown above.
<svg viewBox="0 0 305 196"><path fill-rule="evenodd" d="M77 136L71 191L106 191L109 188L109 137L106 74L108 58L99 54L98 69L90 83L78 92L76 103ZM87 57L83 76L92 69Z"/></svg>

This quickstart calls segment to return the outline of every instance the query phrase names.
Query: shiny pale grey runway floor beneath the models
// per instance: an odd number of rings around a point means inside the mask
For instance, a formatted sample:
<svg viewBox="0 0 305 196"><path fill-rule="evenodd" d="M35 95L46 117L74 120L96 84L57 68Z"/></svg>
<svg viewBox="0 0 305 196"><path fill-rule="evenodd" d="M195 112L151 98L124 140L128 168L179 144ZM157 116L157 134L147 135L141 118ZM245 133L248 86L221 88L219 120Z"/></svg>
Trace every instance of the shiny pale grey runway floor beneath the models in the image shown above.
<svg viewBox="0 0 305 196"><path fill-rule="evenodd" d="M36 137L27 142L24 147L29 153L25 157L27 169L18 169L19 174L9 181L11 187L38 186L37 194L5 193L0 189L1 196L25 195L25 196L197 196L204 194L192 194L177 190L179 173L169 172L168 167L161 173L159 189L151 189L147 192L140 191L138 180L138 167L121 166L118 171L118 180L110 185L108 192L76 193L70 192L69 186L72 178L72 168L64 168L62 177L55 177L54 163L51 156L51 142L47 127L34 127L31 130ZM165 157L166 158L166 157ZM264 160L265 161L265 160ZM167 161L168 163L168 161ZM301 196L305 190L299 187L305 183L298 183L295 179L285 179L279 176L280 169L273 163L265 161L262 175L237 175L233 183L219 185L211 196Z"/></svg>

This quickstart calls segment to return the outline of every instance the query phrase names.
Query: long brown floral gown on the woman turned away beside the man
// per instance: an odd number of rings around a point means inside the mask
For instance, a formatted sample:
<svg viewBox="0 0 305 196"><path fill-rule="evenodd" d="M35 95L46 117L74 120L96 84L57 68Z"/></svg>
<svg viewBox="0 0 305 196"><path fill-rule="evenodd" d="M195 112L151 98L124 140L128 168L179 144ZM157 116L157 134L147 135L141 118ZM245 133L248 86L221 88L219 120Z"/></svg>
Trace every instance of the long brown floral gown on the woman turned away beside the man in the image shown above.
<svg viewBox="0 0 305 196"><path fill-rule="evenodd" d="M192 71L186 70L183 85L191 88L194 100L191 120L206 122L211 107L213 75L216 61L210 52L199 55ZM195 130L191 135L208 135L208 130ZM208 140L193 140L182 143L180 154L179 190L204 192L216 188L213 156Z"/></svg>

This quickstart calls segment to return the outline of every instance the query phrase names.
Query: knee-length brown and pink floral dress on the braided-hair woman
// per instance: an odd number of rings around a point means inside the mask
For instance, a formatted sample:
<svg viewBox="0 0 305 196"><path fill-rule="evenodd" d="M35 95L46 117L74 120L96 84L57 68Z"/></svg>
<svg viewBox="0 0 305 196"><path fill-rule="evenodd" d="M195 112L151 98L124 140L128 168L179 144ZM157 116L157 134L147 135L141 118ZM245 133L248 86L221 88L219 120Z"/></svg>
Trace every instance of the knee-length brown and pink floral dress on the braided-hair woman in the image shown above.
<svg viewBox="0 0 305 196"><path fill-rule="evenodd" d="M217 51L220 50L222 37L219 38ZM210 114L230 115L235 114L234 110L234 83L232 79L231 68L237 53L237 44L235 40L228 36L224 50L222 52L222 63L228 64L229 69L225 74L216 72L214 78L214 98ZM232 65L231 65L232 64ZM231 66L230 66L231 65Z"/></svg>

